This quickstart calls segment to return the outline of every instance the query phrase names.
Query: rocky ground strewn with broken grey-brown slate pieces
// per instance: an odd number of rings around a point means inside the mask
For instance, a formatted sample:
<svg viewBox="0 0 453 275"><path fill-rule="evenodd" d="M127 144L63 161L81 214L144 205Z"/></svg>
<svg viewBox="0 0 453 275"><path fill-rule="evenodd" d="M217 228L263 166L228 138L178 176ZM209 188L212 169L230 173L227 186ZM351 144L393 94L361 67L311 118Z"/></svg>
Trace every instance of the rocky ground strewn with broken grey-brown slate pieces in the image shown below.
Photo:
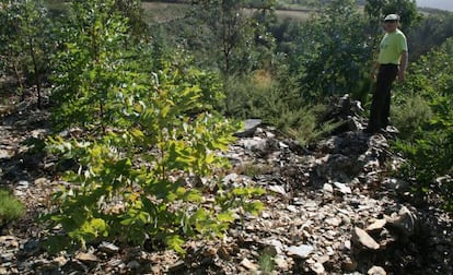
<svg viewBox="0 0 453 275"><path fill-rule="evenodd" d="M61 182L55 159L27 145L49 132L33 107L0 108L0 187L27 207L0 232L0 274L453 274L451 217L414 206L390 172L404 162L388 150L394 133L361 133L345 103L333 107L344 125L309 147L247 121L223 154L233 165L223 181L266 189L266 208L223 239L188 242L185 259L108 242L49 255L35 217Z"/></svg>

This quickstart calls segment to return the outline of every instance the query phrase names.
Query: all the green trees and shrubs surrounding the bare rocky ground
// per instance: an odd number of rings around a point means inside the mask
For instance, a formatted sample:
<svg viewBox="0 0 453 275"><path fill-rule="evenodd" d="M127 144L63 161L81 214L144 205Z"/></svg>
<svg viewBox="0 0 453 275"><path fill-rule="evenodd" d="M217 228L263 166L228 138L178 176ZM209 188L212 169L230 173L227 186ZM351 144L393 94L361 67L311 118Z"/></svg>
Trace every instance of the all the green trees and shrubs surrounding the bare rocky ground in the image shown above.
<svg viewBox="0 0 453 275"><path fill-rule="evenodd" d="M348 94L368 117L388 13L400 15L409 44L390 148L406 162L388 172L409 182L420 207L452 213L451 12L413 0L1 1L1 116L27 100L48 110L51 131L28 146L58 159L71 184L38 214L65 232L46 248L118 236L185 254L187 240L259 213L260 188L219 183L207 202L206 190L181 181L221 177L229 164L217 152L244 119L307 147L338 125L325 117L336 98ZM21 206L0 194L7 226Z"/></svg>

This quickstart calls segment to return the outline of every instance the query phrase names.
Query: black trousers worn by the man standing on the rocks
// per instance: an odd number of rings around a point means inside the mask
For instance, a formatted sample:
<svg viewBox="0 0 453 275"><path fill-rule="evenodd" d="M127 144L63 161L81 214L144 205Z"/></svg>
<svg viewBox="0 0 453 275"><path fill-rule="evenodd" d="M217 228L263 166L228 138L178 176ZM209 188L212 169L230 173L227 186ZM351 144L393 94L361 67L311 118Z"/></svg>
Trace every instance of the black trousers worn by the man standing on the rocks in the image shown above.
<svg viewBox="0 0 453 275"><path fill-rule="evenodd" d="M371 103L368 131L375 132L388 125L392 83L398 74L398 65L381 64L378 83Z"/></svg>

